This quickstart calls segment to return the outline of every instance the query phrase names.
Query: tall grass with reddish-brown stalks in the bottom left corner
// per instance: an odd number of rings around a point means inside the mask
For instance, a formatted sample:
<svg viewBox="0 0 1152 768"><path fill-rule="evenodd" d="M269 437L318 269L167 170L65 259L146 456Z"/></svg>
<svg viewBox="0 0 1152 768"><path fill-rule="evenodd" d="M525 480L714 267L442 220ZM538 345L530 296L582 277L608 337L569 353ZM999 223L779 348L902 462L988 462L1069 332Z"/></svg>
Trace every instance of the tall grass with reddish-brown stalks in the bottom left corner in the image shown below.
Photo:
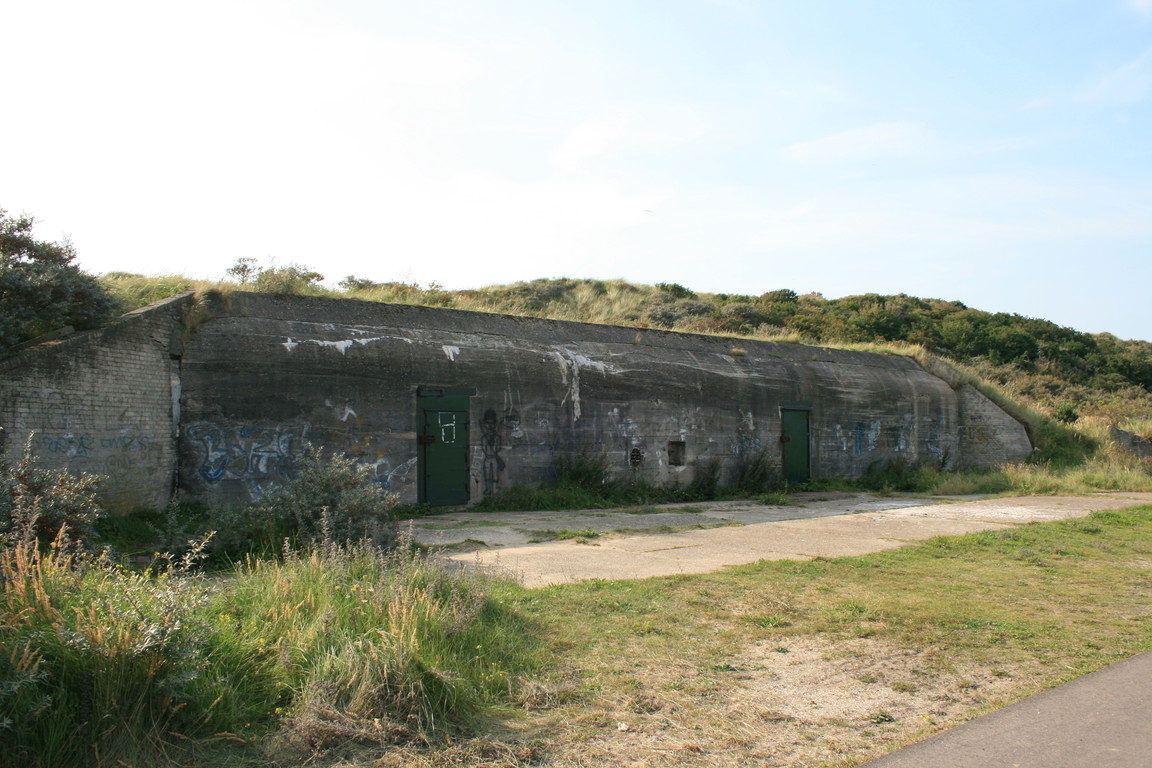
<svg viewBox="0 0 1152 768"><path fill-rule="evenodd" d="M0 550L0 763L116 765L227 729L200 679L205 581L73 552Z"/></svg>

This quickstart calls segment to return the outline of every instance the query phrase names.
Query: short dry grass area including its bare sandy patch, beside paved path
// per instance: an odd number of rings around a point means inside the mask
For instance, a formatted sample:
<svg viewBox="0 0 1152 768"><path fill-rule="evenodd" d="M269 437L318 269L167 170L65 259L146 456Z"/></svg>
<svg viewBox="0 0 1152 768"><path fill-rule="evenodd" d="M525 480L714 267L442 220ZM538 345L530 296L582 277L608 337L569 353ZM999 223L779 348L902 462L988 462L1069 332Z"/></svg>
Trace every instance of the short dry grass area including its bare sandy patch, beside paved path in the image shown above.
<svg viewBox="0 0 1152 768"><path fill-rule="evenodd" d="M441 768L846 767L1152 647L1152 508L525 591L550 675Z"/></svg>

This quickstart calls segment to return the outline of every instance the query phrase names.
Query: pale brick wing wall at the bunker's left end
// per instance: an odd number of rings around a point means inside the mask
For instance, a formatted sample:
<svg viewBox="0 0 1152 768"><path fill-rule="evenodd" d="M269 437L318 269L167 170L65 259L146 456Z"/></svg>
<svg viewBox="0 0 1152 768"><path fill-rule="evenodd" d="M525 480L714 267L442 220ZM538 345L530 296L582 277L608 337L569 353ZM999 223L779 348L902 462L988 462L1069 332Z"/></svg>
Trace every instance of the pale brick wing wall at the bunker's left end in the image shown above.
<svg viewBox="0 0 1152 768"><path fill-rule="evenodd" d="M174 388L189 296L0 362L0 456L106 476L108 509L162 508L175 477ZM175 341L175 345L174 342Z"/></svg>

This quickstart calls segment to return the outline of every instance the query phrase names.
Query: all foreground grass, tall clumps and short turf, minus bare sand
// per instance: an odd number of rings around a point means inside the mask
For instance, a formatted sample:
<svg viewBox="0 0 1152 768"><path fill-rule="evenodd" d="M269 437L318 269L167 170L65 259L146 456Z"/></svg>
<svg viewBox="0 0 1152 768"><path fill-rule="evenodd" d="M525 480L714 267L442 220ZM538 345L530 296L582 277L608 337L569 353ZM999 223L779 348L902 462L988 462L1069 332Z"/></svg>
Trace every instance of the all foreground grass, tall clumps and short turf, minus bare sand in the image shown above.
<svg viewBox="0 0 1152 768"><path fill-rule="evenodd" d="M813 745L832 729L865 755L910 737L909 717L885 704L859 722L736 722L726 702L812 644L907 649L916 669L857 678L916 695L958 670L949 695L978 707L1152 648L1152 507L543 590L406 547L319 547L218 579L187 563L76 564L18 547L0 558L0 765L546 765L620 748L604 740L620 722L694 744L682 765L755 761L751 745L786 728ZM749 660L758 646L768 656ZM980 699L993 678L1003 687ZM947 722L924 717L918 729Z"/></svg>

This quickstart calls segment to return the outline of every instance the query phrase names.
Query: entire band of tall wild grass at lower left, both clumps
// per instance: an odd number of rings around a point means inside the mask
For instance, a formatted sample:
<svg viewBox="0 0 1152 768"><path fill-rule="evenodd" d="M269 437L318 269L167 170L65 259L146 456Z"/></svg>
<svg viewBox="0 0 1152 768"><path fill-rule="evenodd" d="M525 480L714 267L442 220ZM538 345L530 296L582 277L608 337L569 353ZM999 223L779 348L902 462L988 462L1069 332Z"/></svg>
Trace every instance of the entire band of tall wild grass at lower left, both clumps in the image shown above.
<svg viewBox="0 0 1152 768"><path fill-rule="evenodd" d="M218 579L192 558L131 572L60 547L0 553L0 766L426 742L536 663L490 580L411 548L328 542Z"/></svg>

